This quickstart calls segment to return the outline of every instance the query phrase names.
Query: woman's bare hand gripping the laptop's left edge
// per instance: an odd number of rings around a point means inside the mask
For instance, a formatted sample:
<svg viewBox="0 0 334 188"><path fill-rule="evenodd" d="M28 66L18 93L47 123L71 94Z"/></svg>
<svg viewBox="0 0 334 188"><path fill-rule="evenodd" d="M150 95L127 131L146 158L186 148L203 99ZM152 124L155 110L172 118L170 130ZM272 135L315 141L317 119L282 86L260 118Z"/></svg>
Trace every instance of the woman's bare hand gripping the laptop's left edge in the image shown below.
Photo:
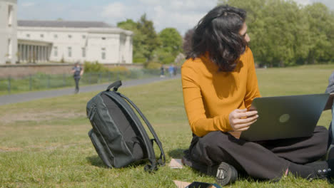
<svg viewBox="0 0 334 188"><path fill-rule="evenodd" d="M230 120L230 125L234 131L248 130L249 126L258 120L258 111L247 112L247 109L236 109L228 115L228 120Z"/></svg>

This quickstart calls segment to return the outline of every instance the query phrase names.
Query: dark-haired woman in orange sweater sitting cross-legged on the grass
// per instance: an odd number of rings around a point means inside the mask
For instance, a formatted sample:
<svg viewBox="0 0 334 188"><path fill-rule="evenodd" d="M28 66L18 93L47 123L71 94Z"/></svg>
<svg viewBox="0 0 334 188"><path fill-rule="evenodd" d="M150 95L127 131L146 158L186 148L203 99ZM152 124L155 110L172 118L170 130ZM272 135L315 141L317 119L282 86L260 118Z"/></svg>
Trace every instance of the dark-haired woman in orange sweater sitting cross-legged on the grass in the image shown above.
<svg viewBox="0 0 334 188"><path fill-rule="evenodd" d="M243 9L217 6L194 30L181 68L193 132L183 163L216 176L221 185L236 181L238 174L255 179L280 179L288 173L307 179L333 177L333 160L316 162L327 151L325 127L315 127L311 137L285 140L248 142L233 136L258 118L257 111L248 110L260 92L245 21Z"/></svg>

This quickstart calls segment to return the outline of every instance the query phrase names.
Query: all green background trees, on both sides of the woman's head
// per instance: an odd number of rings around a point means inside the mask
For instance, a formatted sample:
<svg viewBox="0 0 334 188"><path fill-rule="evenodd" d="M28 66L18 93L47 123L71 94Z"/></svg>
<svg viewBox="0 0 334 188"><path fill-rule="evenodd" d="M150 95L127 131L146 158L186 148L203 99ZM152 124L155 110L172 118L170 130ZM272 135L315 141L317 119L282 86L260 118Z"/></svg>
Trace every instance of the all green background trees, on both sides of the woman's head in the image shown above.
<svg viewBox="0 0 334 188"><path fill-rule="evenodd" d="M334 62L334 13L321 3L300 6L292 0L218 0L247 11L249 46L259 66L295 66ZM133 31L133 62L173 63L190 51L190 28L184 38L176 28L157 33L143 14L117 26ZM156 65L158 66L158 65Z"/></svg>

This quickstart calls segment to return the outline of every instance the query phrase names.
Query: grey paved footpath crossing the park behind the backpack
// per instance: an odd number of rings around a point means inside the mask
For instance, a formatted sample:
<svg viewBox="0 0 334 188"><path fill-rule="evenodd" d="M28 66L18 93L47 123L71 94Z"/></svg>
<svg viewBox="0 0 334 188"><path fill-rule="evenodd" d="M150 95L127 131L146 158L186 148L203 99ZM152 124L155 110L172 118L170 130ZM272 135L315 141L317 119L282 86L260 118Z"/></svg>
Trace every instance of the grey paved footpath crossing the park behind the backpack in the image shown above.
<svg viewBox="0 0 334 188"><path fill-rule="evenodd" d="M153 78L144 78L138 80L126 80L122 81L122 88L123 87L130 87L134 85L141 85L146 83L155 83L162 80L171 80L171 79L179 79L180 75L176 75L175 77L169 78L160 78L160 77L153 77ZM97 91L100 92L102 90L106 90L110 83L99 84L99 85L86 85L80 87L80 93L86 92L93 92ZM1 95L0 96L0 105L6 105L11 103L21 103L30 100L37 100L41 98L54 98L59 97L62 95L73 95L74 88L64 88L64 89L57 89L57 90L44 90L44 91L36 91L36 92L29 92L29 93L21 93L21 94L14 94L14 95Z"/></svg>

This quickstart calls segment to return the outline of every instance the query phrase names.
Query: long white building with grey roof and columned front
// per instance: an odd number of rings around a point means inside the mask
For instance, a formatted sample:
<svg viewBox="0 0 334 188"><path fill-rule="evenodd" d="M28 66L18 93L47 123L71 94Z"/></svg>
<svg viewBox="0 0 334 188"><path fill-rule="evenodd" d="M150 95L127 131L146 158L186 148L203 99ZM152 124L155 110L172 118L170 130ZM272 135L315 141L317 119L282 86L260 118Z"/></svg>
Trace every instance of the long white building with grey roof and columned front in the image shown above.
<svg viewBox="0 0 334 188"><path fill-rule="evenodd" d="M132 63L132 34L98 21L18 21L18 61Z"/></svg>

